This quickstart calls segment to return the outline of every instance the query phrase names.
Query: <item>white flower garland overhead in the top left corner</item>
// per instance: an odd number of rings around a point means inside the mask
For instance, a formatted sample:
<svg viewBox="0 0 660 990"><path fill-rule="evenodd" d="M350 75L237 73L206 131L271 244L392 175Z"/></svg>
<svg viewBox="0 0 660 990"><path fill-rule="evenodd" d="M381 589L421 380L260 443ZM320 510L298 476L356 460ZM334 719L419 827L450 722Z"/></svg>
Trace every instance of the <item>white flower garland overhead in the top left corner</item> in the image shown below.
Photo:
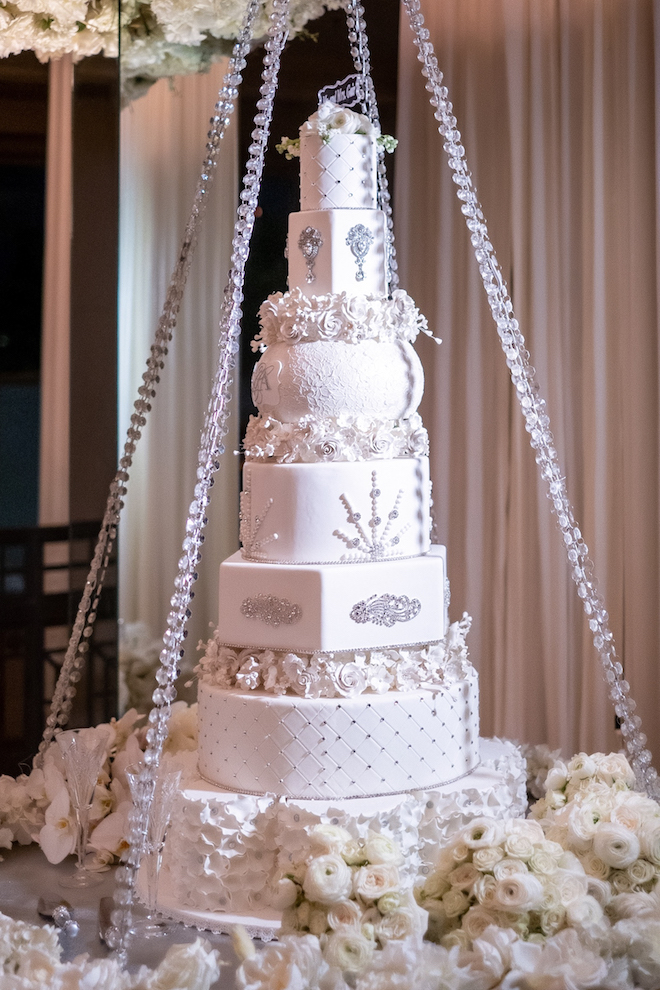
<svg viewBox="0 0 660 990"><path fill-rule="evenodd" d="M289 29L341 0L291 0ZM72 55L117 58L121 51L125 101L158 79L207 72L228 55L245 15L246 0L0 0L0 57L33 51L40 62ZM271 0L263 0L254 37L265 36ZM121 37L121 43L120 43Z"/></svg>

